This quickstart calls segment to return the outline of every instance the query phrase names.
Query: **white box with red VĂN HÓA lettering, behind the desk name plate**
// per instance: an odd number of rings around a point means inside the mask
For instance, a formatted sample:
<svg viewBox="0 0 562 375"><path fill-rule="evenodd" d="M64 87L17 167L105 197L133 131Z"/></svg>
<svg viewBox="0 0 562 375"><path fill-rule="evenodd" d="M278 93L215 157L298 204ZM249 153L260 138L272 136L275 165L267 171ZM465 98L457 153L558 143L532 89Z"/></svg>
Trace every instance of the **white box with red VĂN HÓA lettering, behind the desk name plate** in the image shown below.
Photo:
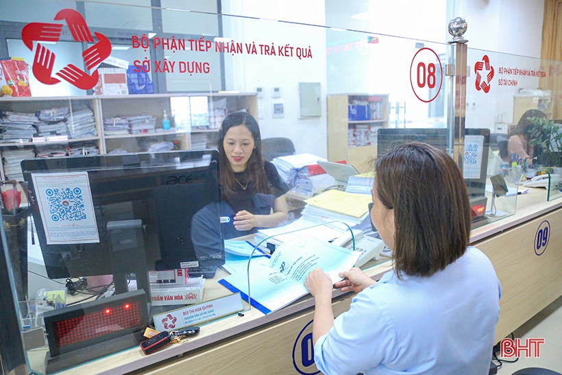
<svg viewBox="0 0 562 375"><path fill-rule="evenodd" d="M171 287L169 284L150 285L152 306L169 306L173 304L198 304L203 302L205 279L189 278L185 285Z"/></svg>

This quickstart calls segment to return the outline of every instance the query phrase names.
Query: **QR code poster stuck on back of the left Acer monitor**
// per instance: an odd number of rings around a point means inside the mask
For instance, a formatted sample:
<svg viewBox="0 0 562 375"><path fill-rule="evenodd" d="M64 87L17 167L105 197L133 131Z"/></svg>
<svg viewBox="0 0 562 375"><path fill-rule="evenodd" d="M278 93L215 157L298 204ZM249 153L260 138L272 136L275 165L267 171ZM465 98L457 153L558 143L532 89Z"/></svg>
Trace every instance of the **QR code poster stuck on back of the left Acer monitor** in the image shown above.
<svg viewBox="0 0 562 375"><path fill-rule="evenodd" d="M87 172L34 173L32 178L48 245L99 242Z"/></svg>

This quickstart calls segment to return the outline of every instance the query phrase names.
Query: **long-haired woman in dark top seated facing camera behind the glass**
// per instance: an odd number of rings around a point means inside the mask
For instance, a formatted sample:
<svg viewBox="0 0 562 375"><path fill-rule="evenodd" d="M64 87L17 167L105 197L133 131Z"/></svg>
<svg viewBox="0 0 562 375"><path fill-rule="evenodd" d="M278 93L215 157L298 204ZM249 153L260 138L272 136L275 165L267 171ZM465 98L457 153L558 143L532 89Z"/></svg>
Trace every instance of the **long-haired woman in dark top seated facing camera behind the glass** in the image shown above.
<svg viewBox="0 0 562 375"><path fill-rule="evenodd" d="M289 188L276 167L263 161L256 119L246 112L229 114L219 131L218 148L222 197L232 208L221 215L233 219L224 228L225 236L239 237L286 221L284 193Z"/></svg>

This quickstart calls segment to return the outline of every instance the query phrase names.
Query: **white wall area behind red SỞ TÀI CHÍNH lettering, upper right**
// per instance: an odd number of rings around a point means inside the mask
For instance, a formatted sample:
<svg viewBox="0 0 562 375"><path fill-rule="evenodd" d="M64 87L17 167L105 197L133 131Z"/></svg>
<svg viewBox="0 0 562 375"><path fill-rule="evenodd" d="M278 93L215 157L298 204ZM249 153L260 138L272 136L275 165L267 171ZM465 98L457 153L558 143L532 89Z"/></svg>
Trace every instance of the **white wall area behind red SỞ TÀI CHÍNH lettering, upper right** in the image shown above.
<svg viewBox="0 0 562 375"><path fill-rule="evenodd" d="M455 14L467 20L469 40L467 79L467 127L490 128L513 119L513 97L520 89L533 90L539 78L500 74L500 66L539 69L544 3L541 0L464 0ZM489 52L489 51L497 51ZM495 68L489 93L476 90L474 64L487 55ZM519 56L517 56L519 55ZM528 57L524 57L528 56ZM517 86L500 86L498 79L517 80Z"/></svg>

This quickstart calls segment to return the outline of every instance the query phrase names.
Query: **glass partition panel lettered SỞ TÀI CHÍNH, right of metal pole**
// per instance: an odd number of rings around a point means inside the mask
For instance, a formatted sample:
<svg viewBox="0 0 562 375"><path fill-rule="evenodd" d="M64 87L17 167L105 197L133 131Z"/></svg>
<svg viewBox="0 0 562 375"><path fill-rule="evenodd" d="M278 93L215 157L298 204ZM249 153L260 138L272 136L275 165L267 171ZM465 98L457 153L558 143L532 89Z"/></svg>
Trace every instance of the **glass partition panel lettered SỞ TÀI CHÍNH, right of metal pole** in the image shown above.
<svg viewBox="0 0 562 375"><path fill-rule="evenodd" d="M468 49L466 127L491 132L488 176L501 175L513 192L546 189L548 200L560 196L560 64ZM550 179L548 172L553 175ZM513 178L517 174L522 174L521 180ZM493 181L489 181L487 193L493 192ZM508 215L515 213L517 202L516 195L509 195L496 199L496 203L504 202Z"/></svg>

